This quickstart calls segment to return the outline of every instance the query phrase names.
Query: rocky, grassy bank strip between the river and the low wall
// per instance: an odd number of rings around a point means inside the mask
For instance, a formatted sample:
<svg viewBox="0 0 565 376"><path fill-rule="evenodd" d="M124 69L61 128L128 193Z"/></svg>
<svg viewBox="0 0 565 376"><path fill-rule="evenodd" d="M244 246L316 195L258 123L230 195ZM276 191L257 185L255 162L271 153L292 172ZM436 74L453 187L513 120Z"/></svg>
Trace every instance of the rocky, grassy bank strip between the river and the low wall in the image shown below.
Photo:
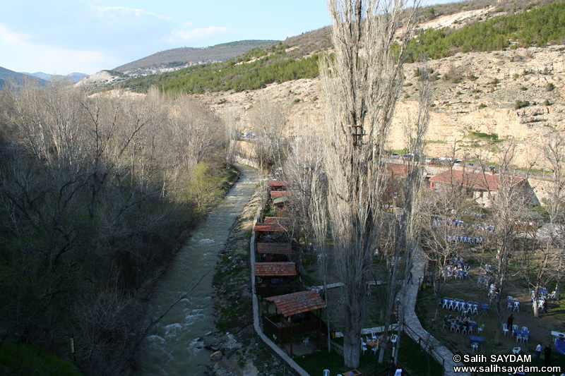
<svg viewBox="0 0 565 376"><path fill-rule="evenodd" d="M230 229L225 248L218 255L213 278L215 324L220 336L210 366L211 375L282 375L283 367L254 337L251 303L249 241L253 219L266 200L257 187Z"/></svg>

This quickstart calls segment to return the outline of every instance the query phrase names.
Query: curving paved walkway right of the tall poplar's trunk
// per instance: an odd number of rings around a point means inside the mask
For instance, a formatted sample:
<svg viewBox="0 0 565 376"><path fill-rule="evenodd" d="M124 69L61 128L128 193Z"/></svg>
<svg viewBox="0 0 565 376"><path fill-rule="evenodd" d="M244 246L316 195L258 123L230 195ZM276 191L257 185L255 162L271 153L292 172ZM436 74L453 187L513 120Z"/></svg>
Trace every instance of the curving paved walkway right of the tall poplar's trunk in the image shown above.
<svg viewBox="0 0 565 376"><path fill-rule="evenodd" d="M417 249L417 253L412 259L412 276L424 276L424 267L426 265L426 259L422 248ZM420 344L424 351L431 352L432 356L441 364L444 363L444 375L445 376L469 376L468 373L455 373L453 372L454 365L463 365L463 363L456 363L453 361L453 353L442 345L437 339L429 334L420 324L420 320L415 312L416 300L418 295L418 284L409 284L408 286L403 286L406 291L405 300L403 307L404 311L404 321L410 331L406 334L412 337L415 341L422 339Z"/></svg>

